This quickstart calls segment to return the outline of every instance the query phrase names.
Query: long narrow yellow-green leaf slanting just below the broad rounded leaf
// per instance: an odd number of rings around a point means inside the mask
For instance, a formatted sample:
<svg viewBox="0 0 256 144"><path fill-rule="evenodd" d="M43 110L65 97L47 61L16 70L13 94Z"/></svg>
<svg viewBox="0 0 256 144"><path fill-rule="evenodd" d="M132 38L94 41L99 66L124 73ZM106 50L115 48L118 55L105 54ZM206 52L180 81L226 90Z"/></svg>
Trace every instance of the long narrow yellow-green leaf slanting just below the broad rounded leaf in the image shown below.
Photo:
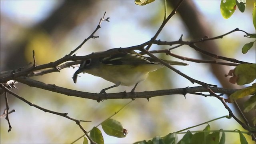
<svg viewBox="0 0 256 144"><path fill-rule="evenodd" d="M228 97L228 102L232 103L237 99L244 98L245 96L249 96L251 94L254 94L255 92L256 92L256 86L255 85L249 86L247 88L240 89L240 90L234 92L233 94L231 94Z"/></svg>

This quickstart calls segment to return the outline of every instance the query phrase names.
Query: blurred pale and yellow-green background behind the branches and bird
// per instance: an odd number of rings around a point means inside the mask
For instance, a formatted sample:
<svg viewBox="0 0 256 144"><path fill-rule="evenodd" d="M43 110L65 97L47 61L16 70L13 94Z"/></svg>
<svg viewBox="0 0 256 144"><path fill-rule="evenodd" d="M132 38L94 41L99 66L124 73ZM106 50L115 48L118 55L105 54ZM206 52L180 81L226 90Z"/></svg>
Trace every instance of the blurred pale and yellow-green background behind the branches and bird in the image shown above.
<svg viewBox="0 0 256 144"><path fill-rule="evenodd" d="M92 52L110 48L128 47L150 40L162 24L164 17L163 1L155 1L146 6L135 5L133 1L7 1L1 0L0 18L0 68L1 71L14 70L32 62L32 50L35 50L37 64L54 62L74 50L87 38L98 25L106 11L110 22L103 22L102 28L76 55L83 56ZM165 41L178 40L184 34L184 40L194 40L207 36L219 36L235 28L253 33L252 6L254 1L247 1L244 13L235 12L225 20L220 14L220 1L185 1L178 14L166 24L158 39ZM168 2L168 13L175 1ZM189 9L191 8L191 9ZM242 54L245 43L250 42L240 32L232 33L214 42L204 42L201 48L230 58L255 63L255 49ZM152 50L170 48L152 46ZM190 58L204 58L192 48L183 46L172 51L175 54ZM177 60L170 56L158 55L168 60ZM180 60L181 61L181 60ZM239 88L229 84L224 77L233 67L221 67L209 64L187 62L190 66L176 66L178 70L194 79L217 84L224 88ZM84 92L98 93L112 85L102 78L89 74L80 74L77 84L72 82L72 75L77 68L66 68L34 79L56 84L65 88ZM130 100L105 100L96 102L71 96L65 96L17 84L14 90L23 98L44 108L68 113L68 116L92 123L82 124L88 131L108 116L114 114ZM170 88L198 86L185 78L162 68L152 72L150 77L141 82L136 91L150 91ZM108 92L128 92L132 87L119 86ZM83 135L82 130L66 118L45 113L24 102L8 96L10 109L16 112L9 115L12 131L8 133L7 121L0 121L0 143L70 143ZM232 107L232 105L230 105ZM1 96L0 112L6 108ZM136 99L113 118L120 121L128 130L126 138L114 138L103 133L105 143L132 143L147 140L154 136L164 136L170 132L228 115L219 100L196 95L159 96ZM238 115L238 114L236 114ZM249 114L255 116L255 114ZM233 119L223 119L211 124L212 130L242 129ZM101 129L101 127L99 127ZM201 129L200 129L201 128ZM202 130L204 126L192 129ZM226 134L227 143L239 143L238 134ZM182 136L179 136L180 138ZM250 137L248 137L250 140ZM78 141L81 143L82 139ZM250 141L248 141L250 142Z"/></svg>

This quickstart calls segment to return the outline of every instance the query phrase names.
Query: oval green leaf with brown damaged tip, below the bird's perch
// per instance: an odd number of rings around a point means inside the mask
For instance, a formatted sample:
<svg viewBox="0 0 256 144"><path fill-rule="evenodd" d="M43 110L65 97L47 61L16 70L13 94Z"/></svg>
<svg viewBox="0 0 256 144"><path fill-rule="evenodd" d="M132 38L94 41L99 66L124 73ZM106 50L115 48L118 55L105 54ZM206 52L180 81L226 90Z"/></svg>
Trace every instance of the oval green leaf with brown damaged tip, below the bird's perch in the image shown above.
<svg viewBox="0 0 256 144"><path fill-rule="evenodd" d="M117 138L126 137L126 134L124 134L124 127L116 120L110 118L103 122L101 126L104 132L109 136L115 136Z"/></svg>

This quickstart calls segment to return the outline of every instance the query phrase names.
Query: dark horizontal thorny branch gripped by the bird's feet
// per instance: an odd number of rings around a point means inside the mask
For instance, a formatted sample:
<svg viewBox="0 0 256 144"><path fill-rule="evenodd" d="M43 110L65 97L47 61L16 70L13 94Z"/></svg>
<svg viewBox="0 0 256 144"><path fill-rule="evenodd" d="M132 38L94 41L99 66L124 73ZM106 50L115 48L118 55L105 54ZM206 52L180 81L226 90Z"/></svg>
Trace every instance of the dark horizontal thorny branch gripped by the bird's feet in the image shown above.
<svg viewBox="0 0 256 144"><path fill-rule="evenodd" d="M173 94L194 94L196 92L208 92L206 88L203 88L202 86L196 86L191 88L176 88L176 89L170 89L170 90L156 90L156 91L150 91L150 92L136 92L136 96L134 94L128 92L119 92L119 93L111 93L108 94L108 98L106 98L106 95L104 94L95 94L95 93L89 93L89 92L81 92L77 90L71 90L68 88L63 88L56 86L54 84L45 84L43 82L39 82L36 80L32 80L30 78L26 77L20 77L17 79L19 82L26 84L28 86L41 88L44 90L49 90L52 92L57 92L60 94L65 94L67 96L75 96L80 98L88 98L91 100L106 100L106 99L127 99L127 98L152 98L155 96L165 96L165 95L173 95ZM220 94L232 94L236 92L236 90L230 90L230 89L224 89L224 88L215 88L210 87L210 89L213 92L220 93Z"/></svg>

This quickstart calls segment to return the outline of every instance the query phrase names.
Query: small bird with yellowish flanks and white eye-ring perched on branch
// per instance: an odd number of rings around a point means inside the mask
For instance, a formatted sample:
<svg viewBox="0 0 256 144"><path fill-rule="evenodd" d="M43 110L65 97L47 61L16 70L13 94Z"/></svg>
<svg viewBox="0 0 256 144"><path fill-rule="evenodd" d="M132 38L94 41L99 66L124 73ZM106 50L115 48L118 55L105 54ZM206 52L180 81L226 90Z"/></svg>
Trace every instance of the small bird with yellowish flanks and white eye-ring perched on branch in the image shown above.
<svg viewBox="0 0 256 144"><path fill-rule="evenodd" d="M183 62L172 60L164 60L168 64L187 66ZM74 73L74 83L77 81L77 75L81 72L99 76L113 82L115 85L101 90L101 94L106 94L106 90L117 87L119 85L131 86L135 84L132 92L134 92L137 84L148 77L149 72L153 72L158 68L163 68L160 62L153 58L142 56L135 51L120 52L108 57L90 58L83 60L80 68Z"/></svg>

